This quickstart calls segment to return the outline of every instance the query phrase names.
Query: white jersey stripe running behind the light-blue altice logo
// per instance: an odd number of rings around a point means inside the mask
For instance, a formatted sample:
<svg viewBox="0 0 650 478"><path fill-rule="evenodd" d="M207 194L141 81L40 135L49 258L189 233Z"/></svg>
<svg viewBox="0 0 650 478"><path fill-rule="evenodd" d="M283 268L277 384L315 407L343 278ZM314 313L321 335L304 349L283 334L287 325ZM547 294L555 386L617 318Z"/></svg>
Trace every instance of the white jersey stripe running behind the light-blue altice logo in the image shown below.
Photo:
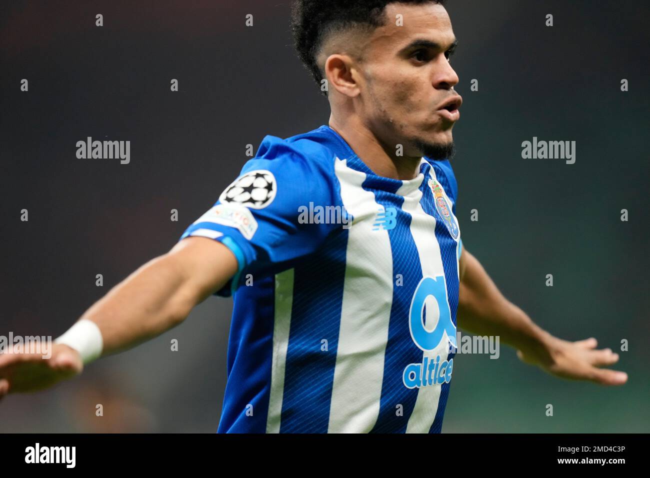
<svg viewBox="0 0 650 478"><path fill-rule="evenodd" d="M422 158L423 162L426 159ZM432 176L435 178L433 166L430 168ZM422 177L425 181L428 178ZM421 183L418 184L418 187ZM428 187L428 186L425 186ZM420 200L422 193L419 189L414 191L402 191L400 188L397 194L404 194L404 204L402 210L411 215L411 235L420 256L420 265L422 267L422 277L444 276L445 269L440 254L440 245L435 237L435 217L428 215L422 209ZM410 189L410 188L409 188ZM447 298L447 293L445 293ZM447 299L448 301L448 299ZM439 310L435 306L435 300L426 303L426 321L424 327L427 330L434 330L438 321ZM429 360L435 360L437 355L440 356L440 362L447 360L449 345L443 341L437 349L423 352L422 358L428 357ZM417 390L417 399L413 412L406 425L407 433L428 433L431 425L434 423L435 413L438 409L440 399L441 384L420 387Z"/></svg>

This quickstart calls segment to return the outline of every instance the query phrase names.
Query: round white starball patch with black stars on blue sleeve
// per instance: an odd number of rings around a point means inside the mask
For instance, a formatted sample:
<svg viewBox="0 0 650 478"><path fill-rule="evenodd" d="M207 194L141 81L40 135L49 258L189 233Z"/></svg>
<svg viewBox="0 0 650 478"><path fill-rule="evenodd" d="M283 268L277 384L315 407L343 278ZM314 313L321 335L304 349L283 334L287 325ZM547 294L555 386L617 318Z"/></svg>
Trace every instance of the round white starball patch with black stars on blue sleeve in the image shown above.
<svg viewBox="0 0 650 478"><path fill-rule="evenodd" d="M221 193L221 202L230 202L262 209L273 202L278 186L273 173L265 169L257 169L243 174L235 179L226 190Z"/></svg>

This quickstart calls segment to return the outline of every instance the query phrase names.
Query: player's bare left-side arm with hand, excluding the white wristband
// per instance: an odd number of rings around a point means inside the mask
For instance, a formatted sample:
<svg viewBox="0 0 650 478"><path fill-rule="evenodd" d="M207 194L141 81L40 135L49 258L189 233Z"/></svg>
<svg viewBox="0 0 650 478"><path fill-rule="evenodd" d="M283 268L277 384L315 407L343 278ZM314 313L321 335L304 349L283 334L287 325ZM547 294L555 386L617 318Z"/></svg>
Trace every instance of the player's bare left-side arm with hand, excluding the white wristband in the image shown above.
<svg viewBox="0 0 650 478"><path fill-rule="evenodd" d="M99 299L81 319L101 332L101 355L134 347L181 323L192 308L218 291L237 271L237 259L206 237L187 237L151 259ZM0 398L47 388L83 369L79 352L56 343L51 356L0 354Z"/></svg>

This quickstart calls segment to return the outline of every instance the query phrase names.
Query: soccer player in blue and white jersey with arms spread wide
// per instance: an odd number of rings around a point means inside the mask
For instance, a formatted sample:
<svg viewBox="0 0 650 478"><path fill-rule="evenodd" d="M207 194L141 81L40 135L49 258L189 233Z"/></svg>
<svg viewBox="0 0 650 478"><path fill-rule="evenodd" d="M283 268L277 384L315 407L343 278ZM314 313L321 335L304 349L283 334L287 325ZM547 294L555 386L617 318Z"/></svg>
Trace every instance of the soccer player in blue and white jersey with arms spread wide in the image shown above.
<svg viewBox="0 0 650 478"><path fill-rule="evenodd" d="M616 353L541 330L463 248L449 162L462 100L441 2L302 0L292 23L328 124L266 136L170 252L96 302L51 358L0 356L0 395L81 373L211 295L235 300L220 432L440 432L462 370L457 325L558 377L625 383L602 368Z"/></svg>

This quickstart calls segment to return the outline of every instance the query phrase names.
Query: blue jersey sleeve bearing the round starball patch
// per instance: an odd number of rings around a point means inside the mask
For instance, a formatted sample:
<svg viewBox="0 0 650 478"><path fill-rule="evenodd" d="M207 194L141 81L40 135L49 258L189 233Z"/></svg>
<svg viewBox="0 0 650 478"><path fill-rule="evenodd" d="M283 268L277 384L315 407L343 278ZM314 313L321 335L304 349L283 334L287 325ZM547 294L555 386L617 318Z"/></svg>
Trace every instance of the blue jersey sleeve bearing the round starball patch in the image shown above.
<svg viewBox="0 0 650 478"><path fill-rule="evenodd" d="M329 150L311 140L289 142L266 136L239 177L188 226L179 241L209 237L237 258L237 274L215 295L231 295L248 274L287 269L291 261L322 244L336 225L305 222L300 210L309 202L340 204L329 155Z"/></svg>

